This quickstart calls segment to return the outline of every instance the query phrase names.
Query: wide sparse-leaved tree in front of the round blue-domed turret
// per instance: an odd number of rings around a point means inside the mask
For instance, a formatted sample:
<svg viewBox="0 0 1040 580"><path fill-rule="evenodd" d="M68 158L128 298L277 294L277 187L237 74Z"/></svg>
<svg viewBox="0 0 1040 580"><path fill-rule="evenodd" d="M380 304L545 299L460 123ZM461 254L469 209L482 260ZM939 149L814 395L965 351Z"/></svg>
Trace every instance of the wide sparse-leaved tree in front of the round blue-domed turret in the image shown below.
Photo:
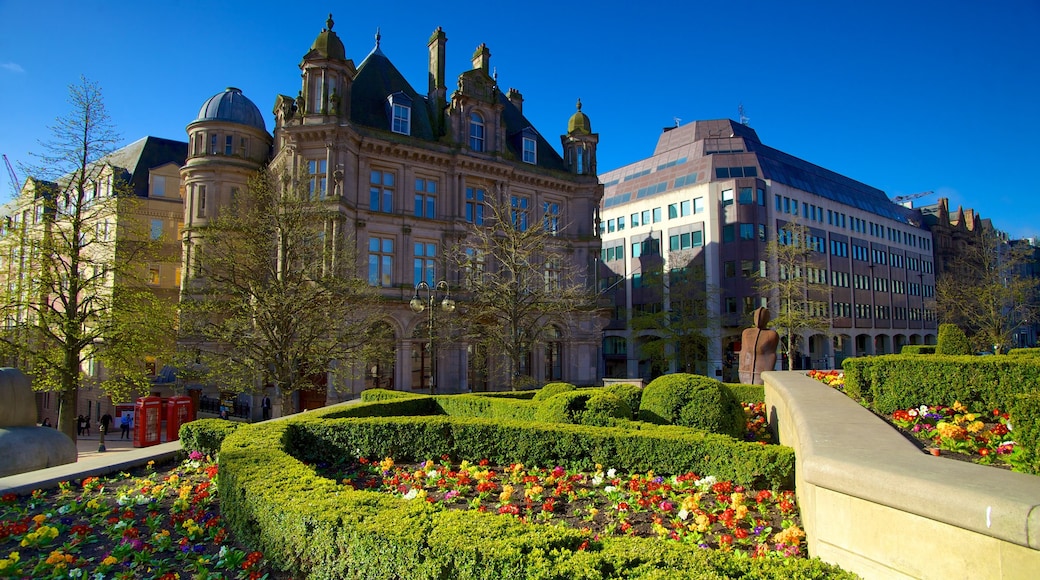
<svg viewBox="0 0 1040 580"><path fill-rule="evenodd" d="M194 378L236 392L277 387L289 413L295 392L323 389L329 372L357 374L392 350L373 329L379 298L358 274L353 239L333 236L343 223L263 169L189 232L200 257L181 299L180 348Z"/></svg>

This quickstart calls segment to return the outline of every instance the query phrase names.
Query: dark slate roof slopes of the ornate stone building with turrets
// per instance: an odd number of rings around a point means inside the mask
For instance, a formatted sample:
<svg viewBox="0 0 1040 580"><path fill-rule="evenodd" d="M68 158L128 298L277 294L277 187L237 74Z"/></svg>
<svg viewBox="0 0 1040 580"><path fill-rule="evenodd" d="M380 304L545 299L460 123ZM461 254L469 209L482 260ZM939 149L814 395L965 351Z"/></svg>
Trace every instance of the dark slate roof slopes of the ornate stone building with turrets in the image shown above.
<svg viewBox="0 0 1040 580"><path fill-rule="evenodd" d="M405 80L404 75L390 62L376 46L358 67L358 74L350 88L350 121L364 127L390 131L389 104L387 98L394 93L402 93L412 99L412 136L436 141L440 137L434 133L433 117L437 111L425 95L417 93ZM521 132L525 128L535 129L501 90L496 89L498 103L502 105L502 122L509 151L519 161L523 158ZM538 134L538 165L547 169L567 170L563 157L548 141Z"/></svg>

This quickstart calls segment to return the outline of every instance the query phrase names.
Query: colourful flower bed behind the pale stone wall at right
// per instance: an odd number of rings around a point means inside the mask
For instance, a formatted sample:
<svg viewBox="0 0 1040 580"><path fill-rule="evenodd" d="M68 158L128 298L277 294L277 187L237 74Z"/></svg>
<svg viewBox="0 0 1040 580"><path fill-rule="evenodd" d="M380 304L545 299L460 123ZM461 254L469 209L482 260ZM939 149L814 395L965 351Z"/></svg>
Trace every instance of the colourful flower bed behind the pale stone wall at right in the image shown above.
<svg viewBox="0 0 1040 580"><path fill-rule="evenodd" d="M813 370L808 375L844 392L840 371ZM945 451L956 458L1000 467L1013 467L1017 458L1011 421L1000 410L973 413L957 401L950 406L922 404L878 415L920 447L936 450L934 454Z"/></svg>

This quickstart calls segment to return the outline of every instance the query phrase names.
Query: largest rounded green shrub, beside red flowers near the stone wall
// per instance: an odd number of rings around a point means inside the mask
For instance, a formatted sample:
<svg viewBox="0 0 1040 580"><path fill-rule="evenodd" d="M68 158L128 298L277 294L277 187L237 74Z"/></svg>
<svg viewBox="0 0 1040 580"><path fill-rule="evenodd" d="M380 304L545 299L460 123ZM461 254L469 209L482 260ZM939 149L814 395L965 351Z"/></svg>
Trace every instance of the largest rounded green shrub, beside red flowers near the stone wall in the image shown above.
<svg viewBox="0 0 1040 580"><path fill-rule="evenodd" d="M722 383L697 374L667 374L643 390L640 419L694 427L740 439L744 408Z"/></svg>

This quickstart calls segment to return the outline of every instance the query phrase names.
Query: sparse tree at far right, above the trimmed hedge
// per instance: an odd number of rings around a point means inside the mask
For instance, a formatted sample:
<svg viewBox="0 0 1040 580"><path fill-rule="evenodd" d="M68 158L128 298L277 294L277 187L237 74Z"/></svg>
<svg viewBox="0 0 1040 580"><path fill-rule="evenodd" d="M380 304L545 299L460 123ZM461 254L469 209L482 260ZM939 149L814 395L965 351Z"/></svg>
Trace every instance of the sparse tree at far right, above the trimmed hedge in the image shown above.
<svg viewBox="0 0 1040 580"><path fill-rule="evenodd" d="M976 351L1008 348L1018 327L1036 319L1040 281L1023 274L1032 253L993 230L961 246L936 280L939 321L964 329Z"/></svg>

